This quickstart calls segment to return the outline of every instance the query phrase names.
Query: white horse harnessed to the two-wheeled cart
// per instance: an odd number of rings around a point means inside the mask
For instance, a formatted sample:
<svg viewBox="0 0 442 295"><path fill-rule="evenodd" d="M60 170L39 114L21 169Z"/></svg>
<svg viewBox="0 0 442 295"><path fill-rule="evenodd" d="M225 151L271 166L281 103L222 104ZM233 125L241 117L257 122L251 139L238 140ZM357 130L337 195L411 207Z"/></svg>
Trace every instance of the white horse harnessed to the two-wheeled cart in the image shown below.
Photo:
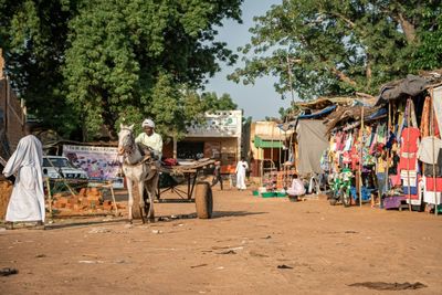
<svg viewBox="0 0 442 295"><path fill-rule="evenodd" d="M138 185L139 211L143 223L145 223L144 211L150 222L155 222L154 198L157 191L159 178L159 165L151 157L144 157L135 143L134 125L120 125L118 133L118 155L123 156L123 171L127 180L127 190L129 192L129 222L133 220L133 183ZM149 197L148 209L146 209L144 191Z"/></svg>

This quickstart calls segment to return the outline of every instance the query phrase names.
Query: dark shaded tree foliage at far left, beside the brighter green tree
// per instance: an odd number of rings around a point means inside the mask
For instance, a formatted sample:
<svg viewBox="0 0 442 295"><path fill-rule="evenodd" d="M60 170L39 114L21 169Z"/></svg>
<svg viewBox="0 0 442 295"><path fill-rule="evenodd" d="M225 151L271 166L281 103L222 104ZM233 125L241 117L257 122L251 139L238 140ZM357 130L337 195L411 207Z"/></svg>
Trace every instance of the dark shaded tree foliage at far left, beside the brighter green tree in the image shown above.
<svg viewBox="0 0 442 295"><path fill-rule="evenodd" d="M78 120L64 99L62 66L76 1L0 0L0 48L28 110L61 133Z"/></svg>

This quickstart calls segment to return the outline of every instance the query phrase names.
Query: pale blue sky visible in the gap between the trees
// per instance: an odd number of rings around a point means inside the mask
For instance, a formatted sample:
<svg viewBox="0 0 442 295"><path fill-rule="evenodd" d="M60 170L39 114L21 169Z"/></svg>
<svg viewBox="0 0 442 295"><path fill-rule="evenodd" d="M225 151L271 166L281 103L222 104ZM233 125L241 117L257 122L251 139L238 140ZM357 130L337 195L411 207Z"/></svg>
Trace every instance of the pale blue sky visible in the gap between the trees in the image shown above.
<svg viewBox="0 0 442 295"><path fill-rule="evenodd" d="M282 0L245 0L242 4L242 20L239 24L232 20L224 20L223 27L218 28L218 40L228 43L229 49L236 52L238 46L249 43L251 33L249 28L253 27L253 17L263 15L272 4L280 4ZM252 116L253 120L263 119L265 116L280 117L280 107L288 107L290 99L282 101L281 95L274 91L273 84L276 78L267 76L256 80L254 85L236 84L228 81L227 75L241 66L241 54L238 63L233 66L221 64L222 71L209 80L206 91L215 92L221 95L228 93L244 109L244 116Z"/></svg>

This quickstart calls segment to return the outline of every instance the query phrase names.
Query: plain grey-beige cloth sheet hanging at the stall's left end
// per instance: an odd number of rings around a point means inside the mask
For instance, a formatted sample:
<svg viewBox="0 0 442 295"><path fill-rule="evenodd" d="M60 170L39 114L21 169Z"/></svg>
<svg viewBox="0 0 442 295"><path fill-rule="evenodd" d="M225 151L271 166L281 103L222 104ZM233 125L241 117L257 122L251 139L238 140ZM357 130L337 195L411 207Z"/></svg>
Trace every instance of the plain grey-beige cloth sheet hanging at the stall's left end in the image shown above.
<svg viewBox="0 0 442 295"><path fill-rule="evenodd" d="M299 173L319 173L320 156L328 147L327 127L323 120L298 120L296 133L298 143L297 170Z"/></svg>

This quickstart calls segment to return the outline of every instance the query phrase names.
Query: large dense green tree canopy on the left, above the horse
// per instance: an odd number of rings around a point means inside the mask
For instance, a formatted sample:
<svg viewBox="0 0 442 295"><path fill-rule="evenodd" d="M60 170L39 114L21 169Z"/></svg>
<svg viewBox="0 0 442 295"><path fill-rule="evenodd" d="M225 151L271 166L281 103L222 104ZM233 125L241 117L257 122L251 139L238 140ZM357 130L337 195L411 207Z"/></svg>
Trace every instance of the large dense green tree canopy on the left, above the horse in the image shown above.
<svg viewBox="0 0 442 295"><path fill-rule="evenodd" d="M92 138L144 117L179 130L196 108L185 89L235 61L214 25L241 21L241 2L0 0L0 46L29 109L57 130Z"/></svg>

